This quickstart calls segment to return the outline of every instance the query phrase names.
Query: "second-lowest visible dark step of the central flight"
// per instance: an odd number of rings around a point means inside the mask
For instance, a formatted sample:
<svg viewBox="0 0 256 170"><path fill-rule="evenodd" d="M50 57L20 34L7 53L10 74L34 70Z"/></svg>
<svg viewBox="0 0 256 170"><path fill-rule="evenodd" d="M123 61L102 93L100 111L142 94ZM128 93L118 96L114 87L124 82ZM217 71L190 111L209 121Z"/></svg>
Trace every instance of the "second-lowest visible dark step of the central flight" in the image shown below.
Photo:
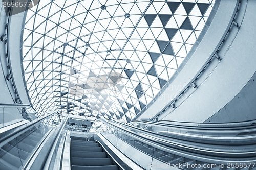
<svg viewBox="0 0 256 170"><path fill-rule="evenodd" d="M78 166L104 166L112 165L110 158L71 158L72 165Z"/></svg>

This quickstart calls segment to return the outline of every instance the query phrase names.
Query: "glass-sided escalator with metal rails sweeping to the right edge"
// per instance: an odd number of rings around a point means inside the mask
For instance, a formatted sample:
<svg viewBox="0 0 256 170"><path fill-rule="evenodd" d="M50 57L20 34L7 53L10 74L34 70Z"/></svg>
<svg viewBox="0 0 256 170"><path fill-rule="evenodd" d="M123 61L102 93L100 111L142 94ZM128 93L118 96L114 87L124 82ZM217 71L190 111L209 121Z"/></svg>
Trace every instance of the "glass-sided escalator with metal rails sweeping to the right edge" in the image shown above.
<svg viewBox="0 0 256 170"><path fill-rule="evenodd" d="M198 166L201 169L212 169L212 167L217 166L220 169L225 169L231 167L231 163L233 163L234 165L241 165L234 169L256 169L256 129L253 123L242 123L246 126L228 125L226 129L224 126L219 127L219 125L211 125L212 127L207 128L198 128L197 126L184 128L182 126L179 127L180 129L161 125L161 128L165 128L168 135L154 132L156 130L155 125L146 124L145 130L114 120L96 119L90 131L93 133L99 131L104 134L106 138L116 143L116 147L125 145L124 143L129 144L131 148L148 155L149 158L145 161L151 165L154 165L154 162L158 162L155 164L159 165L160 162L160 164L170 165L178 169L200 169ZM94 127L97 130L94 131ZM240 132L250 133L237 136ZM126 147L129 146L126 145ZM122 148L119 147L119 149L125 152ZM129 154L129 152L125 154ZM134 157L134 161L136 159ZM136 163L140 164L141 162L137 161ZM183 164L186 167L179 166ZM195 167L196 164L197 167ZM152 169L152 167L146 169Z"/></svg>

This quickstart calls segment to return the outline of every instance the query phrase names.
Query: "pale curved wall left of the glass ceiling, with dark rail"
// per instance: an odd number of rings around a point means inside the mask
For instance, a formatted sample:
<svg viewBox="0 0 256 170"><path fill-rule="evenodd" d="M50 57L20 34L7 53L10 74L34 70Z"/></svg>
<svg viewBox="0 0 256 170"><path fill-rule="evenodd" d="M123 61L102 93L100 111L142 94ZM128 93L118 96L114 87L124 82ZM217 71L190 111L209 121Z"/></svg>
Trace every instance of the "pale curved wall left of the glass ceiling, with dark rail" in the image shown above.
<svg viewBox="0 0 256 170"><path fill-rule="evenodd" d="M8 17L6 16L2 1L0 6L0 36L2 36L3 34L7 34L7 29L5 26L6 23L8 23ZM23 80L23 69L21 66L22 54L20 53L20 47L22 46L21 37L23 33L22 28L24 23L24 15L25 13L23 12L10 17L7 44L0 41L0 103L14 104L15 99L17 96L19 96L20 102L18 103L30 105L30 100L28 98ZM8 58L5 56L6 53L8 53ZM10 69L7 68L8 64L12 72L10 72ZM7 74L12 75L12 80L6 80ZM16 93L13 85L15 85Z"/></svg>

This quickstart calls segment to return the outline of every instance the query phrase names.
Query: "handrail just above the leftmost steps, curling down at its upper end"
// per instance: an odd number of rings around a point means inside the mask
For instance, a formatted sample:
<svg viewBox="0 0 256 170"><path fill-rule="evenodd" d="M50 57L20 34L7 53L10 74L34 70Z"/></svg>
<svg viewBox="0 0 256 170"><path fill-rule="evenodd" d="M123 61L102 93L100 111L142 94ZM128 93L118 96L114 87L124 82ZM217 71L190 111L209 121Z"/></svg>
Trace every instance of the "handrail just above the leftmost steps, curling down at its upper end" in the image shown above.
<svg viewBox="0 0 256 170"><path fill-rule="evenodd" d="M12 139L14 139L15 137L17 137L18 135L20 135L22 132L25 132L27 130L29 130L30 128L36 126L37 124L39 124L42 120L45 120L46 118L52 116L56 114L58 117L58 121L60 122L60 116L58 112L53 112L50 114L47 114L45 116L42 116L40 118L37 118L35 120L32 120L31 122L21 125L19 127L15 127L13 129L7 130L3 133L0 134L1 138L0 138L0 148L5 145L6 143L8 143L9 141L11 141Z"/></svg>

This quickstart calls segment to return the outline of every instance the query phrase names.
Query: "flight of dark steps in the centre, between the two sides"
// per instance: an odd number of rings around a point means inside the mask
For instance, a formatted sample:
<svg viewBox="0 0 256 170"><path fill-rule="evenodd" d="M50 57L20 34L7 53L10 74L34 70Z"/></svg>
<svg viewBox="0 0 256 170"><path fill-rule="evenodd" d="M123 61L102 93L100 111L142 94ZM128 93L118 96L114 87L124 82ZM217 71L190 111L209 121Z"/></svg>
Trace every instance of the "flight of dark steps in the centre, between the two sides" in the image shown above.
<svg viewBox="0 0 256 170"><path fill-rule="evenodd" d="M118 170L99 143L71 137L71 170Z"/></svg>

